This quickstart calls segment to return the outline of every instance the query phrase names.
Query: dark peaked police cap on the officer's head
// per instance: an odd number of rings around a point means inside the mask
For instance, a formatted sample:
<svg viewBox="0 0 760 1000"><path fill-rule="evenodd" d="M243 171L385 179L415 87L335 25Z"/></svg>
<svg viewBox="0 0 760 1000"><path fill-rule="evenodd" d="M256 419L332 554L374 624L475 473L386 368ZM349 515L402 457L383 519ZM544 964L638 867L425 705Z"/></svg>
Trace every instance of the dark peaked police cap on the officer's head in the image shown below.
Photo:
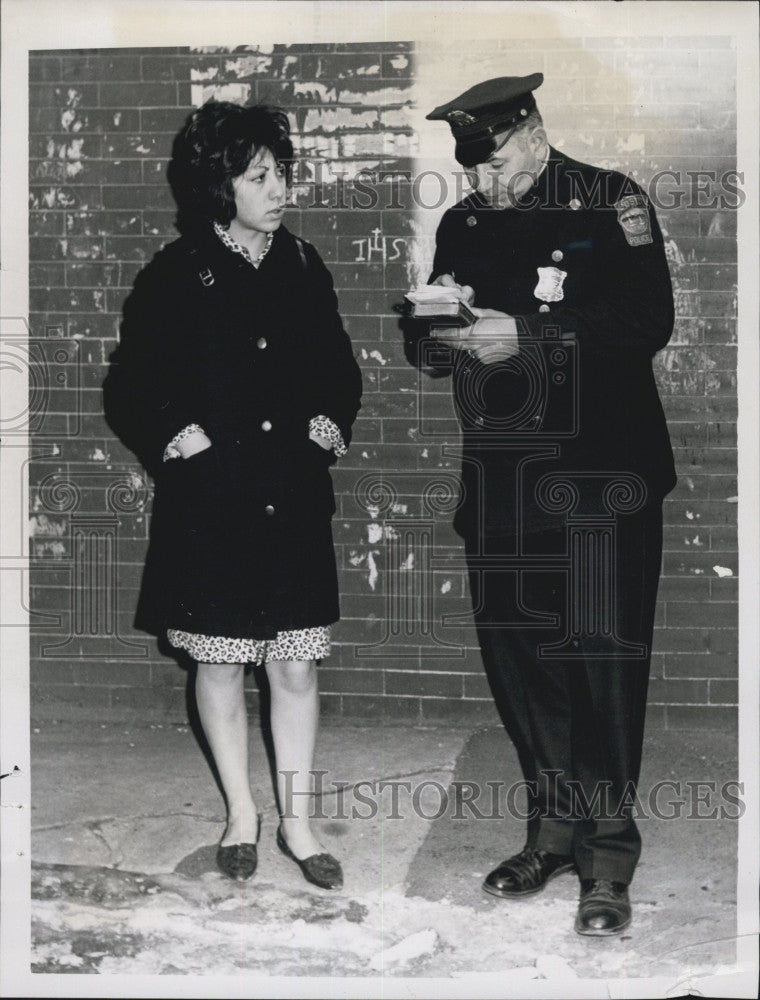
<svg viewBox="0 0 760 1000"><path fill-rule="evenodd" d="M543 82L543 73L486 80L465 90L453 101L441 104L425 117L429 121L449 123L456 140L454 155L463 167L474 167L496 151L497 135L511 134L531 111L535 111L532 92Z"/></svg>

